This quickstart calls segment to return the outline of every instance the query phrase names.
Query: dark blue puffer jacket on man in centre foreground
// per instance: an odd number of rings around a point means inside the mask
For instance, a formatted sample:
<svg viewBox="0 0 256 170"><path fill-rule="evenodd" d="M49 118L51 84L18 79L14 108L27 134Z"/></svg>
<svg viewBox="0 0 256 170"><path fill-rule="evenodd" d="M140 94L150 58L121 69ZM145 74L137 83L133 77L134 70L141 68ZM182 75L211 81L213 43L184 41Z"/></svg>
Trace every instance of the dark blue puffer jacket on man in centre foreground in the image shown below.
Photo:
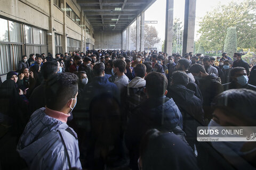
<svg viewBox="0 0 256 170"><path fill-rule="evenodd" d="M182 129L182 115L173 99L165 96L149 98L131 114L125 132L125 144L130 151L131 168L137 168L142 136L150 129L172 132L179 125Z"/></svg>

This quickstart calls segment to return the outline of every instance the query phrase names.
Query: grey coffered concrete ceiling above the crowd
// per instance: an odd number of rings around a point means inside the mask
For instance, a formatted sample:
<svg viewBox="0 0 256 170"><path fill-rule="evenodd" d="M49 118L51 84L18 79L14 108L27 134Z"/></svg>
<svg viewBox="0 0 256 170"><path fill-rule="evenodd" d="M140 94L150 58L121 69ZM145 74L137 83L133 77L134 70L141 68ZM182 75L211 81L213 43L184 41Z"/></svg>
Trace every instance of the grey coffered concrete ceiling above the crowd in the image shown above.
<svg viewBox="0 0 256 170"><path fill-rule="evenodd" d="M123 31L156 0L77 0L94 30Z"/></svg>

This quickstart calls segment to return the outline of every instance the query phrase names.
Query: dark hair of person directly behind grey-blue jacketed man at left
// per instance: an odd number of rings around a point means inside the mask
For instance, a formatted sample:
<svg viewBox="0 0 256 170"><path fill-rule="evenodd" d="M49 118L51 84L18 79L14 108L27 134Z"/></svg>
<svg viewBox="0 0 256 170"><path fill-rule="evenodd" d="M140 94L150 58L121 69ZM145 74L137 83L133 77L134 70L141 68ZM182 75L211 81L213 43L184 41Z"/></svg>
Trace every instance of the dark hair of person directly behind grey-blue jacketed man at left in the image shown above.
<svg viewBox="0 0 256 170"><path fill-rule="evenodd" d="M58 63L56 61L45 62L41 67L44 80L47 80L51 75L57 72Z"/></svg>

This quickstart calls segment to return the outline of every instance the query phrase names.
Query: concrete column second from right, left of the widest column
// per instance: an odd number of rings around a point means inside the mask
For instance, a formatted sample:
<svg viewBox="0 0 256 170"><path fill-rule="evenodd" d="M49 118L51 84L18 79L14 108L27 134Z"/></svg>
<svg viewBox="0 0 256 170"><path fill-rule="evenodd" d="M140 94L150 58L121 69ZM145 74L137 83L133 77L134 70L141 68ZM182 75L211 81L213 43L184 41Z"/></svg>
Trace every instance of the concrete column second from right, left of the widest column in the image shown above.
<svg viewBox="0 0 256 170"><path fill-rule="evenodd" d="M166 0L164 52L168 55L172 53L173 2Z"/></svg>

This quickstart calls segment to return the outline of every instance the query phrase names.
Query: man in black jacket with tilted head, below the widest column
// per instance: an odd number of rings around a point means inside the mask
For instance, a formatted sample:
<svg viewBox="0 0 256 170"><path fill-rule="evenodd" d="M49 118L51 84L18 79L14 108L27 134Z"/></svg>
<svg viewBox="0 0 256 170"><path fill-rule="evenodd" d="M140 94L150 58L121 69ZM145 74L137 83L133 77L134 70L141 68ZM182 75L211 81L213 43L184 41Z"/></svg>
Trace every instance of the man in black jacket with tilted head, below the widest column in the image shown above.
<svg viewBox="0 0 256 170"><path fill-rule="evenodd" d="M204 66L201 64L191 65L188 71L194 75L196 83L201 90L205 122L209 122L212 118L211 102L215 96L223 91L221 80L215 74L206 73Z"/></svg>

